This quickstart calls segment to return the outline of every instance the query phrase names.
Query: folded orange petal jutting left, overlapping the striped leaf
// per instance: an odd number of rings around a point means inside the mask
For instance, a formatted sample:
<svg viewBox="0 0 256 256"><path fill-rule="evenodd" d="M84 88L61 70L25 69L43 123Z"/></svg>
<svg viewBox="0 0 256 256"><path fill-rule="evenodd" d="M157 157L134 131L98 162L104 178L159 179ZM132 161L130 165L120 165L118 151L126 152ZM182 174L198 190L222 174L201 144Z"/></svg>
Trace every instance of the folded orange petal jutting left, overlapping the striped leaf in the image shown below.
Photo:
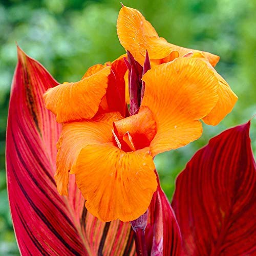
<svg viewBox="0 0 256 256"><path fill-rule="evenodd" d="M108 86L111 67L78 82L59 84L44 94L46 107L56 115L59 123L90 119L98 111Z"/></svg>

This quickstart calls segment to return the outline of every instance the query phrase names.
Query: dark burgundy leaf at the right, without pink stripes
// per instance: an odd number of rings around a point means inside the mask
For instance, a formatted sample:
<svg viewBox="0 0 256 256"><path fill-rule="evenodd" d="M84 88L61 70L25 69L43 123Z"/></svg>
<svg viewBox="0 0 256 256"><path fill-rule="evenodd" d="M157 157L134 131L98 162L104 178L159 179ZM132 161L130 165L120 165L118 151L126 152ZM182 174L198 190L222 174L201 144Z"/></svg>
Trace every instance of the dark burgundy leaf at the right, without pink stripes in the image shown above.
<svg viewBox="0 0 256 256"><path fill-rule="evenodd" d="M255 255L250 122L212 138L178 176L172 206L185 255Z"/></svg>

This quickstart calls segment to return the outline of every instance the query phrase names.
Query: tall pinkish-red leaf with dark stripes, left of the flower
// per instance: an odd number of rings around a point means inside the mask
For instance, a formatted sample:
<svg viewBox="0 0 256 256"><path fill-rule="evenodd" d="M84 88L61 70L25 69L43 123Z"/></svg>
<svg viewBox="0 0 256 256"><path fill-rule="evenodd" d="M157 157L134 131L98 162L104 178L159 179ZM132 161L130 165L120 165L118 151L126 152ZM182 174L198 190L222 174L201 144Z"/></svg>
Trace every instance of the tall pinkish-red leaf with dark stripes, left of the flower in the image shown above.
<svg viewBox="0 0 256 256"><path fill-rule="evenodd" d="M14 230L23 255L134 254L129 223L101 223L84 208L69 183L69 197L53 178L61 126L45 108L42 94L58 83L18 48L7 126L8 194Z"/></svg>

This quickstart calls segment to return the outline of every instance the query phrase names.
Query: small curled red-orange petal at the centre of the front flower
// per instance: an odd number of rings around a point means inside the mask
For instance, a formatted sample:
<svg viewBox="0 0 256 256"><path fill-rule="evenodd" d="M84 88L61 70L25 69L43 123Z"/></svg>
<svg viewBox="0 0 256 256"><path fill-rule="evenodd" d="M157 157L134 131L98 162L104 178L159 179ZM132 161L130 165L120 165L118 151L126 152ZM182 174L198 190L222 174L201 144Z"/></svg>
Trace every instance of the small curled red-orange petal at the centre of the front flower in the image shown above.
<svg viewBox="0 0 256 256"><path fill-rule="evenodd" d="M140 108L138 114L115 121L113 125L117 137L121 141L123 136L127 140L127 135L125 134L129 132L136 150L149 146L156 135L156 122L153 118L153 113L145 106ZM131 147L131 149L133 148Z"/></svg>

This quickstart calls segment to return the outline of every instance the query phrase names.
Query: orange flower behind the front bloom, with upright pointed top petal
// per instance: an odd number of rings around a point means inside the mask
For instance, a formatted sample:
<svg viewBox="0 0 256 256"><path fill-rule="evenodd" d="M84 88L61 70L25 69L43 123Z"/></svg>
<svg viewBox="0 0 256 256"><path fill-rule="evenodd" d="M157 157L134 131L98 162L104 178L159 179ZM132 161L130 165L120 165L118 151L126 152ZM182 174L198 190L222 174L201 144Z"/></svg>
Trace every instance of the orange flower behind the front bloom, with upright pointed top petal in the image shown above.
<svg viewBox="0 0 256 256"><path fill-rule="evenodd" d="M208 52L187 49L169 44L159 37L153 26L136 9L123 6L117 19L117 34L121 45L131 52L133 57L143 65L146 51L153 65L172 61L178 57L201 58L214 67L220 57ZM212 68L212 70L214 70ZM214 70L219 80L219 100L210 113L203 118L204 122L217 125L237 102L237 96L232 92L228 83Z"/></svg>

